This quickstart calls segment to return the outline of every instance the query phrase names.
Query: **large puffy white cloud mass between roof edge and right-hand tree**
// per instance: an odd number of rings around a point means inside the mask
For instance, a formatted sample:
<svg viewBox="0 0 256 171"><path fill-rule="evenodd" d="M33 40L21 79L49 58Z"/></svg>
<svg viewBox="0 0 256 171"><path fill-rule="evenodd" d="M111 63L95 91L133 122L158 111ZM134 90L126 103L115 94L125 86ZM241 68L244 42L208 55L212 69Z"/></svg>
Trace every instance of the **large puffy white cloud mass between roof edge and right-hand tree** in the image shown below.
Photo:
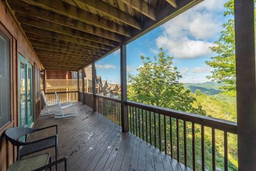
<svg viewBox="0 0 256 171"><path fill-rule="evenodd" d="M156 39L158 48L177 58L209 55L212 38L222 30L222 18L217 12L223 10L225 2L206 0L164 24L162 34Z"/></svg>

